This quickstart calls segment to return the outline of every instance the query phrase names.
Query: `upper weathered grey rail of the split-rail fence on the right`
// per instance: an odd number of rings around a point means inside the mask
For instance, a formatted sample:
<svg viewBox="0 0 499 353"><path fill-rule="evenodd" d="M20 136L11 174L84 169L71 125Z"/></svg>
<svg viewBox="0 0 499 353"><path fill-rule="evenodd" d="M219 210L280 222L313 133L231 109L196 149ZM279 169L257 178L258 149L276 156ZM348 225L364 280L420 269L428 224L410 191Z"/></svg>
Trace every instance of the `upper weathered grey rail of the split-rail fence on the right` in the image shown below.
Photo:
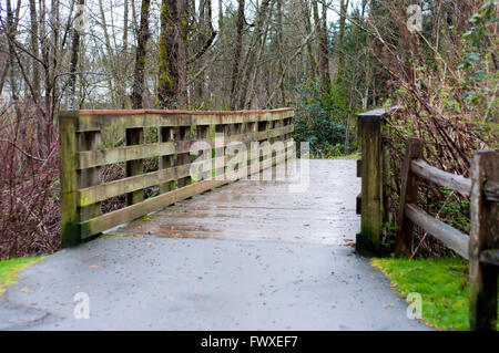
<svg viewBox="0 0 499 353"><path fill-rule="evenodd" d="M470 195L471 180L464 176L440 170L430 166L422 159L413 160L410 170L420 178L429 180L438 186L447 187L465 196Z"/></svg>

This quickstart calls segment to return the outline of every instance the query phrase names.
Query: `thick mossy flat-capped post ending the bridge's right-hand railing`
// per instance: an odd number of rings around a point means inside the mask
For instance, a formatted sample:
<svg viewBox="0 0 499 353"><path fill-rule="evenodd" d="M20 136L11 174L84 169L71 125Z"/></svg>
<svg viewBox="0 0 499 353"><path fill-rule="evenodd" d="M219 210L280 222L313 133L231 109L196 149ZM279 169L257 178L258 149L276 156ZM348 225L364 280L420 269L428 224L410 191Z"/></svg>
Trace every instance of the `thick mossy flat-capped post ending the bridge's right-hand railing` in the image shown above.
<svg viewBox="0 0 499 353"><path fill-rule="evenodd" d="M385 110L358 115L361 168L361 220L356 249L360 252L379 253L383 226L383 160L381 120Z"/></svg>

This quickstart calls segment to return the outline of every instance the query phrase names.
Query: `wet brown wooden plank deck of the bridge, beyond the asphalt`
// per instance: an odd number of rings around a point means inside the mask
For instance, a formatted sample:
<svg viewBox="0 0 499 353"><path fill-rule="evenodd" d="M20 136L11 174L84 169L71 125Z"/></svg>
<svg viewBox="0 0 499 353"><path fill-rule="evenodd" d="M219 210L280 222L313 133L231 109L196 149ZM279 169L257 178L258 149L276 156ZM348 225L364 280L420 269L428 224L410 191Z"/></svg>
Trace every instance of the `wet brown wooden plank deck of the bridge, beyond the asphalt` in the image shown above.
<svg viewBox="0 0 499 353"><path fill-rule="evenodd" d="M308 188L289 193L285 180L240 180L177 203L111 231L120 236L283 240L322 243L353 241L358 231L355 196L360 180L348 159L310 160Z"/></svg>

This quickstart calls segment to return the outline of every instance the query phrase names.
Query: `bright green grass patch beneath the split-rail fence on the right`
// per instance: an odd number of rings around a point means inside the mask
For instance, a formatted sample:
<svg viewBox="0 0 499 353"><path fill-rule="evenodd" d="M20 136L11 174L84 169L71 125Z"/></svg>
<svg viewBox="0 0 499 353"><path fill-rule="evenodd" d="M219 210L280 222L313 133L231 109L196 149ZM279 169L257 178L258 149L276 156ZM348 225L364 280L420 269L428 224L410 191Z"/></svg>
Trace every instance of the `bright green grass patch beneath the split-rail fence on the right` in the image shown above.
<svg viewBox="0 0 499 353"><path fill-rule="evenodd" d="M469 330L468 263L460 258L371 259L406 295L418 292L422 299L422 320L440 330Z"/></svg>

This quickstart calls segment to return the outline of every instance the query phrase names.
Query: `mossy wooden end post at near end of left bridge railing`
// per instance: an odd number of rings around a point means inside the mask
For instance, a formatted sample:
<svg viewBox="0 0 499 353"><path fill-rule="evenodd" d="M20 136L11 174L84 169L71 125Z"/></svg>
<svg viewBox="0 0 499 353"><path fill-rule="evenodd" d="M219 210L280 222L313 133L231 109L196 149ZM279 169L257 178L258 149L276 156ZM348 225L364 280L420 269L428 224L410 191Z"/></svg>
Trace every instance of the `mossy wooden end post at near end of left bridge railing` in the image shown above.
<svg viewBox="0 0 499 353"><path fill-rule="evenodd" d="M80 240L77 207L77 121L78 113L70 112L59 115L61 248L74 246Z"/></svg>

